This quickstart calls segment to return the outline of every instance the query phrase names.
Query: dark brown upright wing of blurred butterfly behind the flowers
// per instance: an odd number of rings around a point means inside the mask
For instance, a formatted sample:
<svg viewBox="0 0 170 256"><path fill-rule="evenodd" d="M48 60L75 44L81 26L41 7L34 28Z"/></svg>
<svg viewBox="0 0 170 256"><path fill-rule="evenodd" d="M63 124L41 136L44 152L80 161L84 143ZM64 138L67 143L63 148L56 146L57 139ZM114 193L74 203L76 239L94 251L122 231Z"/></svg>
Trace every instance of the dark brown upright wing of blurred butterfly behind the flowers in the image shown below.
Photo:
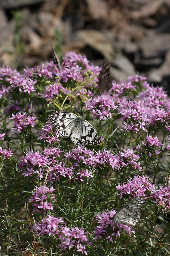
<svg viewBox="0 0 170 256"><path fill-rule="evenodd" d="M99 89L109 92L112 88L111 70L107 59L104 59L102 68L99 74Z"/></svg>

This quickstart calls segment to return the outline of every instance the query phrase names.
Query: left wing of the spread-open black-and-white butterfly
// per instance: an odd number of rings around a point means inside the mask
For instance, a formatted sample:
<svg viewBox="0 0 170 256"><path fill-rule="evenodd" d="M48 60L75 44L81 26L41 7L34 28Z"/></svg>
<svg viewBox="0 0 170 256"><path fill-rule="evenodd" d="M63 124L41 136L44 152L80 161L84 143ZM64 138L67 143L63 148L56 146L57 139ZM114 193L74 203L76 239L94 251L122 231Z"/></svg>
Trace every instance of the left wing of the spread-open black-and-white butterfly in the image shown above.
<svg viewBox="0 0 170 256"><path fill-rule="evenodd" d="M49 120L53 126L55 126L56 131L62 137L69 137L72 133L75 121L78 118L76 114L73 113L53 113L49 115Z"/></svg>

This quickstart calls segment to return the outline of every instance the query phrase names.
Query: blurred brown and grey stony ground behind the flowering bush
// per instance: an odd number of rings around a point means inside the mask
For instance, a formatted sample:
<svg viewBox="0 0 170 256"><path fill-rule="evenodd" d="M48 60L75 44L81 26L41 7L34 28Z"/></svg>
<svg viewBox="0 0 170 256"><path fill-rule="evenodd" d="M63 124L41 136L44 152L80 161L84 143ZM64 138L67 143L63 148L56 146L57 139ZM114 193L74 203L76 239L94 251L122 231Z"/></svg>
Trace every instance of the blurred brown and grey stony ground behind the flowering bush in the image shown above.
<svg viewBox="0 0 170 256"><path fill-rule="evenodd" d="M67 51L111 76L145 75L170 85L170 0L0 0L0 65L21 70Z"/></svg>

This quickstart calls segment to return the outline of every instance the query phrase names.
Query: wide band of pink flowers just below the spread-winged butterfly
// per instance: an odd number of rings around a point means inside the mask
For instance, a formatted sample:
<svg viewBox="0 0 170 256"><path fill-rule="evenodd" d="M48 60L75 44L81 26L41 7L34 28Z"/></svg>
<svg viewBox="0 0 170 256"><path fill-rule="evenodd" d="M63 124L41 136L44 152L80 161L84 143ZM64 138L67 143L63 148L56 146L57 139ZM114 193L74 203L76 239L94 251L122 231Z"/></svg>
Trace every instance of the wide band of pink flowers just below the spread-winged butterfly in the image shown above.
<svg viewBox="0 0 170 256"><path fill-rule="evenodd" d="M65 152L67 161L59 161L61 150L58 148L48 148L39 151L29 151L18 164L24 176L37 174L41 179L48 171L47 181L53 183L60 177L68 177L75 181L84 181L84 178L93 178L96 170L111 166L113 170L129 167L130 169L141 171L139 156L132 149L126 149L120 155L114 155L110 150L94 150L78 146Z"/></svg>

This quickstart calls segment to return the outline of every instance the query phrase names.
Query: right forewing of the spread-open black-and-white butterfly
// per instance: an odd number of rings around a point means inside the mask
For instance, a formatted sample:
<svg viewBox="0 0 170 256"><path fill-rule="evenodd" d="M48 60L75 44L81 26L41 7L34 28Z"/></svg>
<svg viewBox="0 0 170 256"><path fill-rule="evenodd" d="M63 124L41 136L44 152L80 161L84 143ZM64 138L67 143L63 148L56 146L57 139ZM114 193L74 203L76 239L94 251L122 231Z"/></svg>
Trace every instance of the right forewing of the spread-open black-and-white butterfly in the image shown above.
<svg viewBox="0 0 170 256"><path fill-rule="evenodd" d="M81 141L83 144L97 146L101 143L100 137L94 127L86 120L82 120Z"/></svg>

